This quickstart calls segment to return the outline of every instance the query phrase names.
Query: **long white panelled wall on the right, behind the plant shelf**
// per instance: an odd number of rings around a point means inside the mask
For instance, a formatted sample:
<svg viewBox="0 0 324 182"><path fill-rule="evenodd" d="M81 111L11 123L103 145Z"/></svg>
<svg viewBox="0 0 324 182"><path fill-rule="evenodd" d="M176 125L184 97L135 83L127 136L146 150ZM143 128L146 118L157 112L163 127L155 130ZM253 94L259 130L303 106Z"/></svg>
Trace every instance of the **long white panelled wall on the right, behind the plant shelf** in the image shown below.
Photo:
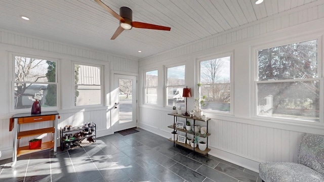
<svg viewBox="0 0 324 182"><path fill-rule="evenodd" d="M196 89L197 59L213 54L233 53L233 114L207 112L211 117L209 132L210 154L227 161L258 171L261 161L297 162L300 138L304 132L324 134L320 123L266 121L254 117L253 60L255 48L260 45L280 45L324 36L324 5L313 4L306 9L287 11L252 24L183 45L180 48L140 60L139 74L148 69L158 69L160 95L164 94L164 66L183 62L186 65L186 85ZM319 45L321 47L321 44ZM322 61L320 50L319 61ZM143 89L143 76L140 88ZM194 91L194 94L196 92ZM193 94L193 95L194 95ZM193 96L188 98L188 110L193 108ZM140 94L139 126L169 137L173 117L171 107L164 107L163 99L158 105L143 104Z"/></svg>

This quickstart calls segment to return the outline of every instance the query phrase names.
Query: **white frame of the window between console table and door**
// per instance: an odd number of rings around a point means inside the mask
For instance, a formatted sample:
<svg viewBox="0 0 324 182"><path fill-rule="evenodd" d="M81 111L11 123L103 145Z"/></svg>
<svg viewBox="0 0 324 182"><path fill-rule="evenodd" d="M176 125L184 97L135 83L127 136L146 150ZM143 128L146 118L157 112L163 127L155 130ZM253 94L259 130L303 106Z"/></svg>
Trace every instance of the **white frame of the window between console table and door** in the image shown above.
<svg viewBox="0 0 324 182"><path fill-rule="evenodd" d="M92 66L92 67L99 67L100 68L100 104L94 104L94 105L80 105L80 106L75 106L74 102L75 102L75 87L74 85L75 83L75 78L74 78L74 68L75 65L84 65L84 66ZM84 63L84 62L72 62L72 106L75 108L91 108L91 107L98 107L98 106L104 106L104 85L103 85L103 80L104 80L104 65L100 65L100 64L89 64L89 63Z"/></svg>

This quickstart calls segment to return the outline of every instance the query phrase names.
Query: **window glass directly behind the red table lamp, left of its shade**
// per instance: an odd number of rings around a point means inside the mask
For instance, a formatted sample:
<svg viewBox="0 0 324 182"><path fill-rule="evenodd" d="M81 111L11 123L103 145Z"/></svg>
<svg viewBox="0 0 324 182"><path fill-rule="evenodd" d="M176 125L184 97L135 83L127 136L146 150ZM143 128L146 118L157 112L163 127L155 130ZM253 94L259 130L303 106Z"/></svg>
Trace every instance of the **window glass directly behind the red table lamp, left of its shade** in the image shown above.
<svg viewBox="0 0 324 182"><path fill-rule="evenodd" d="M184 107L185 98L182 97L185 87L185 65L167 69L167 93L168 106Z"/></svg>

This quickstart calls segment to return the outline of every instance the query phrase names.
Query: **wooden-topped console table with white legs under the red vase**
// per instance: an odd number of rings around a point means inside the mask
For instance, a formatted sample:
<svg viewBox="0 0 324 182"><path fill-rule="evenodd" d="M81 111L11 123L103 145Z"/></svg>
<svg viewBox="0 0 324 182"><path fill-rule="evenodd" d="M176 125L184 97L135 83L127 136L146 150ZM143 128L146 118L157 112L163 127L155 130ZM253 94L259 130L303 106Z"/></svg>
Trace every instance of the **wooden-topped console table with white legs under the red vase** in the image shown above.
<svg viewBox="0 0 324 182"><path fill-rule="evenodd" d="M10 128L9 130L14 130L14 149L12 160L14 166L17 162L17 157L24 154L30 154L33 152L38 152L46 149L53 149L54 155L56 155L56 146L57 146L57 122L58 122L57 111L42 112L41 114L15 114L10 119ZM42 121L53 121L53 126L48 128L33 129L27 131L20 131L20 125L32 122L42 122ZM29 150L29 146L19 147L19 139L27 136L52 133L52 141L43 142L41 148Z"/></svg>

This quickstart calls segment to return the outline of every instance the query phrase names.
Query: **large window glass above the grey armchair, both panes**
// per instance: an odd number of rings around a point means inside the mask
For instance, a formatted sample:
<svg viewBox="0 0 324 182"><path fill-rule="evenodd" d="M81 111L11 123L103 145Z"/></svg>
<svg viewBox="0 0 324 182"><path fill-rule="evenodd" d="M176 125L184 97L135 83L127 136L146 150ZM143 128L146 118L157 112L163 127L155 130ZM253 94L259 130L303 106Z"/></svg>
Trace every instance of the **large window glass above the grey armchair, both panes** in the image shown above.
<svg viewBox="0 0 324 182"><path fill-rule="evenodd" d="M319 121L317 40L258 51L257 115Z"/></svg>

